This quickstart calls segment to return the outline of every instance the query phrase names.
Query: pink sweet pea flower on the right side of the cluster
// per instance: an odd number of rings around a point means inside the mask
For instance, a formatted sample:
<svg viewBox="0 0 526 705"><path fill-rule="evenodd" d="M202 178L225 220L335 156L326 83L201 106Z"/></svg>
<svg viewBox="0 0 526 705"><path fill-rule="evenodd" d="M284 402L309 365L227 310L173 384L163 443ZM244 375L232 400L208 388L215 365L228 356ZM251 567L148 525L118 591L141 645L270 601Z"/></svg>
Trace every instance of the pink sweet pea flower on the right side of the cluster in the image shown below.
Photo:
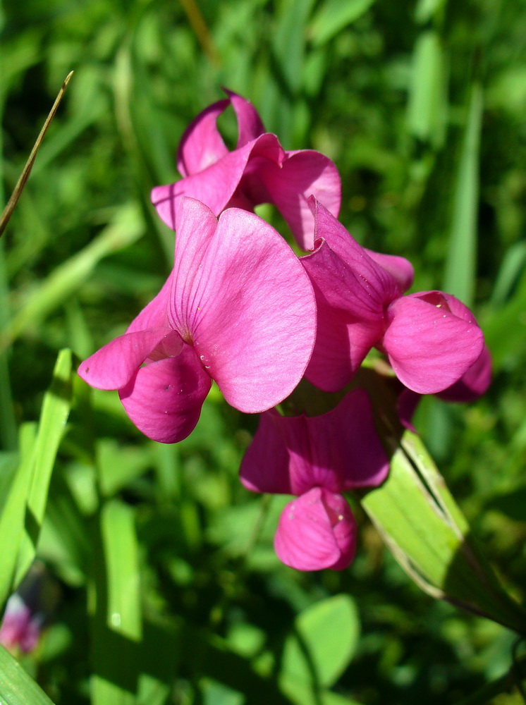
<svg viewBox="0 0 526 705"><path fill-rule="evenodd" d="M403 296L412 283L410 263L365 250L322 204L310 203L315 250L301 261L314 287L318 327L307 379L338 391L376 346L412 391L432 394L458 382L484 348L470 309L441 291Z"/></svg>

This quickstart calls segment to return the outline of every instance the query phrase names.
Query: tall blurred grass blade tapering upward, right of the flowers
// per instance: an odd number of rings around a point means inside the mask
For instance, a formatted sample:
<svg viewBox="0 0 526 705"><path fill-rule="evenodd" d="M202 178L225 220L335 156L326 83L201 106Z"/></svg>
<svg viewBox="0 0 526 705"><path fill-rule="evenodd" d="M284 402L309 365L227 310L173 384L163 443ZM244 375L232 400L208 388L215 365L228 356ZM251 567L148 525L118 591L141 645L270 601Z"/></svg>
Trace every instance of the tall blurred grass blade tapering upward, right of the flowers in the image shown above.
<svg viewBox="0 0 526 705"><path fill-rule="evenodd" d="M479 203L479 145L482 126L482 88L470 94L458 173L453 194L453 217L444 274L444 291L471 306L477 266L477 209Z"/></svg>

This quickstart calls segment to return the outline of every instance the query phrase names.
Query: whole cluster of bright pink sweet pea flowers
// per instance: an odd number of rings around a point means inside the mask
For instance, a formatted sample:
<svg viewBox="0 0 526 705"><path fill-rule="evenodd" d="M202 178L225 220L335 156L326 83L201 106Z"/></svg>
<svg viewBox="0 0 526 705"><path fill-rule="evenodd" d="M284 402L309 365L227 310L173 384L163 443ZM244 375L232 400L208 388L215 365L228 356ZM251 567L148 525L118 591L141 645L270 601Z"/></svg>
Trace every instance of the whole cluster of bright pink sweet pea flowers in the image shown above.
<svg viewBox="0 0 526 705"><path fill-rule="evenodd" d="M216 126L231 105L238 142ZM212 380L236 409L262 412L240 470L251 491L290 494L276 552L299 570L341 570L356 526L343 493L384 481L389 461L357 372L375 348L400 384L400 420L422 394L468 401L489 385L482 331L441 291L406 293L410 262L361 247L338 221L341 180L319 152L287 152L254 107L228 91L183 135L183 178L154 188L176 231L173 270L126 333L82 362L88 384L116 389L144 434L174 443L194 429ZM298 246L259 219L279 209ZM384 363L384 367L386 364ZM275 407L305 378L339 393L319 415ZM297 405L295 405L297 407Z"/></svg>

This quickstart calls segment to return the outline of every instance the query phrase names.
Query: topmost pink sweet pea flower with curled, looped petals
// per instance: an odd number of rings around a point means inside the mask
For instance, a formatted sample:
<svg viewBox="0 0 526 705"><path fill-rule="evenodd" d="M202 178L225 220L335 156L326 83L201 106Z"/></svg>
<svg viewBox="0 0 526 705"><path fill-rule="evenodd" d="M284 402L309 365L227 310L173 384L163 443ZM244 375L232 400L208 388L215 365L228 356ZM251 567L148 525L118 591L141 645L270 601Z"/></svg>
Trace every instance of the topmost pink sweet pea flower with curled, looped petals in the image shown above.
<svg viewBox="0 0 526 705"><path fill-rule="evenodd" d="M218 215L228 206L252 211L274 204L303 250L312 250L314 221L307 204L311 194L338 215L341 180L334 163L312 149L286 152L276 135L265 133L255 108L231 91L202 111L188 126L178 149L177 168L183 178L157 186L152 202L161 219L175 229L182 195L207 204ZM231 105L238 119L238 142L226 147L216 121Z"/></svg>

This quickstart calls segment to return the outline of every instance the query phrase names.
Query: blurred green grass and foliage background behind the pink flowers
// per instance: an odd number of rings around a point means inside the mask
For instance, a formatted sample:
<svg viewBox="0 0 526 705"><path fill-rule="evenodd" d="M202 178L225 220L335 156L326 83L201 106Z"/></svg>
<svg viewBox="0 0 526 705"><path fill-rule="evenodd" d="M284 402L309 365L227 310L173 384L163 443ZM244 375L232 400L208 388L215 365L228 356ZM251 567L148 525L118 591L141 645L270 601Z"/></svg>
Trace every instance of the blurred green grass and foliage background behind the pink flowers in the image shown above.
<svg viewBox="0 0 526 705"><path fill-rule="evenodd" d="M123 333L168 274L149 190L176 180L185 126L224 85L283 147L334 159L360 243L475 310L494 384L469 407L426 400L416 426L524 599L525 4L4 0L0 21L4 201L75 71L1 243L0 477L58 350ZM232 115L221 128L233 144ZM456 704L508 670L513 635L422 594L359 506L349 570L281 565L286 498L237 479L256 422L214 392L161 446L116 393L79 386L39 548L58 595L24 661L57 705Z"/></svg>

